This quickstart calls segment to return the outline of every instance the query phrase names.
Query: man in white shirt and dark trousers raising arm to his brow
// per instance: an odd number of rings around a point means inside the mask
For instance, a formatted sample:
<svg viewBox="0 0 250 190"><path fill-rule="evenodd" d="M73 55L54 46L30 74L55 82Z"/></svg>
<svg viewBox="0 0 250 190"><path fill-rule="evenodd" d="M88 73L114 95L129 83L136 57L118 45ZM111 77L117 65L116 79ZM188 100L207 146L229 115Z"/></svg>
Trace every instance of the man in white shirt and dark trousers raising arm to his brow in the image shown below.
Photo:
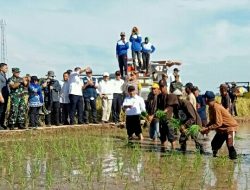
<svg viewBox="0 0 250 190"><path fill-rule="evenodd" d="M83 124L83 97L82 88L83 81L80 78L80 74L84 72L85 69L76 67L69 76L69 100L70 100L70 124L75 124L75 113L77 110L78 124Z"/></svg>

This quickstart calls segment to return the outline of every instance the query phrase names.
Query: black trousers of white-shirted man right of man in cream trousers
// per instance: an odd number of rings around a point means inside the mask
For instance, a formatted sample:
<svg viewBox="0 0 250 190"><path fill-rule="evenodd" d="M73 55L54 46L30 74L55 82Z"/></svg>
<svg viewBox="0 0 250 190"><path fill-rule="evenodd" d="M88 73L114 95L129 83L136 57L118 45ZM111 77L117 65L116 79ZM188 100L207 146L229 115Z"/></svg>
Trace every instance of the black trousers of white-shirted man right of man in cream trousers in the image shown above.
<svg viewBox="0 0 250 190"><path fill-rule="evenodd" d="M122 94L113 94L112 100L112 119L113 122L120 122L120 113L122 107L123 96Z"/></svg>

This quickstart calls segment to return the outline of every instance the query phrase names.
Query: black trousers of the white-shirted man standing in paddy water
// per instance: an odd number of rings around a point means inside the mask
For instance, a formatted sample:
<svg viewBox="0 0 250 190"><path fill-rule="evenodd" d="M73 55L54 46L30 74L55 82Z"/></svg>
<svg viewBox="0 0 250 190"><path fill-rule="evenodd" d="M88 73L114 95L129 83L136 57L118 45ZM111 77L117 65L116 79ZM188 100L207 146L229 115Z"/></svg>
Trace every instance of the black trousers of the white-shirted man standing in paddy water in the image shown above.
<svg viewBox="0 0 250 190"><path fill-rule="evenodd" d="M127 115L126 128L128 137L132 137L134 133L136 136L139 136L142 133L140 115Z"/></svg>

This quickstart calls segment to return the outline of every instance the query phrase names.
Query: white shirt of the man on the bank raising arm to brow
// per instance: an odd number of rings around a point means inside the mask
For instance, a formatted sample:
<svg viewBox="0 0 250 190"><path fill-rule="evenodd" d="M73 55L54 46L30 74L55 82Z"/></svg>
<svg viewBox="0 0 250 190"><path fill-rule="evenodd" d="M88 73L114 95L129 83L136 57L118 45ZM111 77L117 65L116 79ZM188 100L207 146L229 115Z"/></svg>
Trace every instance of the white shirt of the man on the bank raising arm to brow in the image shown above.
<svg viewBox="0 0 250 190"><path fill-rule="evenodd" d="M69 94L82 96L83 80L79 72L72 72L69 76Z"/></svg>

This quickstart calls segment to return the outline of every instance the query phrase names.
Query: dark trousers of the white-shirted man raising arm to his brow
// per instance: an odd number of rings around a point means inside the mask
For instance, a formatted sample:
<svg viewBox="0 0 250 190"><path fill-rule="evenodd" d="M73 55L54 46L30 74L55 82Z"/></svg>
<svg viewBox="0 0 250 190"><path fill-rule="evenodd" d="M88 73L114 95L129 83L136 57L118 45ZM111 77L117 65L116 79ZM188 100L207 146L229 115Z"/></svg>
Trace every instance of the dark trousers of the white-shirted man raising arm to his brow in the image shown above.
<svg viewBox="0 0 250 190"><path fill-rule="evenodd" d="M83 124L83 97L78 95L69 95L70 100L70 124L75 124L75 114L77 111L78 124Z"/></svg>

